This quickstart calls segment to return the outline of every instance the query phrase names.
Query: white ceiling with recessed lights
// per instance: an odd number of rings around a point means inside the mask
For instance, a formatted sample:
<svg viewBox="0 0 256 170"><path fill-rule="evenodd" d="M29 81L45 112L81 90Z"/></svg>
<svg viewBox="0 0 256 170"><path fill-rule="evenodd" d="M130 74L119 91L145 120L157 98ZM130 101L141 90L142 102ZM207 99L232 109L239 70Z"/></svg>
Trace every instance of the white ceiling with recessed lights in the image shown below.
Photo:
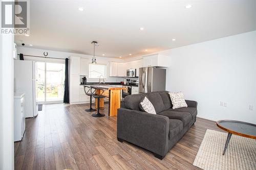
<svg viewBox="0 0 256 170"><path fill-rule="evenodd" d="M95 40L96 55L105 57L145 55L256 30L255 0L31 0L30 9L30 37L16 36L18 45L23 40L34 48L92 55Z"/></svg>

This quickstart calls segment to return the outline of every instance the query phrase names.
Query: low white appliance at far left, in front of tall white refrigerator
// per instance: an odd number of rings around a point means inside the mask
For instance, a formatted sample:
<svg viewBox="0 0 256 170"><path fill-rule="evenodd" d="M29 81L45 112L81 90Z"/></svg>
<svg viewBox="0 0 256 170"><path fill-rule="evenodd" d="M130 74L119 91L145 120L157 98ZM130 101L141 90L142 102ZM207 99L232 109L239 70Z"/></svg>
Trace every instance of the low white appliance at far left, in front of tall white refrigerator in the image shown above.
<svg viewBox="0 0 256 170"><path fill-rule="evenodd" d="M22 140L26 124L25 124L25 94L15 93L13 102L13 128L14 141Z"/></svg>

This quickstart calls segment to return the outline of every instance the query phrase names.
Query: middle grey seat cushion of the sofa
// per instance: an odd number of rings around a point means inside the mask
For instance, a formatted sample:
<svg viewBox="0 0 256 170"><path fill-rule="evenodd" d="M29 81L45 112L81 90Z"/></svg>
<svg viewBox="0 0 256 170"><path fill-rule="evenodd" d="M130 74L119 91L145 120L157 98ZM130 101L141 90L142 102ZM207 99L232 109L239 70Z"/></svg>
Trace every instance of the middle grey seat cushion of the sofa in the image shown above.
<svg viewBox="0 0 256 170"><path fill-rule="evenodd" d="M182 121L183 127L189 124L192 120L192 115L188 112L178 112L178 111L169 111L165 110L160 113L160 115L164 115L169 117L170 119L179 119Z"/></svg>

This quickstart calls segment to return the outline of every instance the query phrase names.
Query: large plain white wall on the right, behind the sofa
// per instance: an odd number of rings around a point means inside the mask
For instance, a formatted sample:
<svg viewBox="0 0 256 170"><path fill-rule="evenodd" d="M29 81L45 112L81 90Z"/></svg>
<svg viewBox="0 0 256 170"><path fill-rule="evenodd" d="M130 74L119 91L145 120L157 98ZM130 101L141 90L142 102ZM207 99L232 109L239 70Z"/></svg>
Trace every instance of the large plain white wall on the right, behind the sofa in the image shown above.
<svg viewBox="0 0 256 170"><path fill-rule="evenodd" d="M199 116L256 124L256 31L160 54L169 56L166 90L198 101Z"/></svg>

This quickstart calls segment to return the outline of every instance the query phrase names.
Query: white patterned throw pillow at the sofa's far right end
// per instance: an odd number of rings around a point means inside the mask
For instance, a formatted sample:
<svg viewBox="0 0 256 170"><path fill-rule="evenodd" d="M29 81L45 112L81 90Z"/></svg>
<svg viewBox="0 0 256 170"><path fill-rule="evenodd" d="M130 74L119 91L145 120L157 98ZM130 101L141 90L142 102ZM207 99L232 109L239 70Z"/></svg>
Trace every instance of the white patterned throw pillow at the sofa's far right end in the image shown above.
<svg viewBox="0 0 256 170"><path fill-rule="evenodd" d="M187 107L183 92L169 92L169 95L173 104L173 109Z"/></svg>

